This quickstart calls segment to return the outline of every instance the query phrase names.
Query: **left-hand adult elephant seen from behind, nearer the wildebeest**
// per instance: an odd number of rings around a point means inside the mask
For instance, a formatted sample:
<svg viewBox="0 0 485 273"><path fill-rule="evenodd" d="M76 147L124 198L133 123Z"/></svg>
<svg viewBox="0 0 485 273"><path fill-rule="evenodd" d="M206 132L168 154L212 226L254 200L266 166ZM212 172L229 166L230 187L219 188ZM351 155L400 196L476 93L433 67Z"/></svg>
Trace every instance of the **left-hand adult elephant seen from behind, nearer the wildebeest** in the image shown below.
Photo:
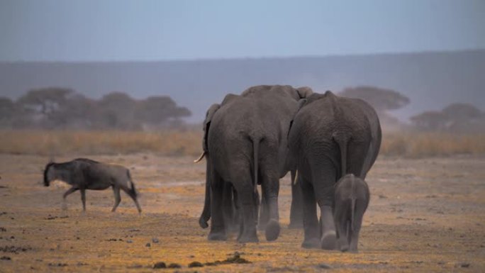
<svg viewBox="0 0 485 273"><path fill-rule="evenodd" d="M260 228L266 230L267 240L277 239L279 178L289 171L286 135L289 121L298 107L297 101L308 91L311 89L289 86L251 87L240 96L229 94L221 105L214 104L208 109L203 147L206 179L211 183L206 183L206 202L199 224L206 228L206 221L212 216L209 240L226 239L223 225L228 220L223 215L228 213L219 208L230 207L229 202L223 201L227 194L222 193L225 191L223 185L230 183L238 196L242 216L238 240L257 241L255 223L259 198L255 182L262 185L264 203ZM208 194L209 191L212 194Z"/></svg>

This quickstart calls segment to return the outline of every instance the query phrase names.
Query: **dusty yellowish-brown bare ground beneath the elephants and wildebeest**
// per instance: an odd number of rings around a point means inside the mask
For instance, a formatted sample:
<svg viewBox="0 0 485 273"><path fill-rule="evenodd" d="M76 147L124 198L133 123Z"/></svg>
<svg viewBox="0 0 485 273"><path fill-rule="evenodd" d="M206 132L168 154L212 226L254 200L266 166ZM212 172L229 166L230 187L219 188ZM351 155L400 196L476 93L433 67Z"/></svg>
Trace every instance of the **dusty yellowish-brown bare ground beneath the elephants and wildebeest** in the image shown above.
<svg viewBox="0 0 485 273"><path fill-rule="evenodd" d="M197 218L204 199L204 164L191 157L94 156L132 169L141 216L122 195L79 193L41 184L47 158L0 155L0 272L484 272L485 157L420 160L380 157L367 181L371 203L358 254L305 250L289 230L289 179L281 181L283 229L272 243L208 242ZM72 157L57 158L57 161ZM158 240L153 243L152 240ZM150 246L147 246L150 243ZM189 268L239 252L250 264ZM152 269L156 262L180 269Z"/></svg>

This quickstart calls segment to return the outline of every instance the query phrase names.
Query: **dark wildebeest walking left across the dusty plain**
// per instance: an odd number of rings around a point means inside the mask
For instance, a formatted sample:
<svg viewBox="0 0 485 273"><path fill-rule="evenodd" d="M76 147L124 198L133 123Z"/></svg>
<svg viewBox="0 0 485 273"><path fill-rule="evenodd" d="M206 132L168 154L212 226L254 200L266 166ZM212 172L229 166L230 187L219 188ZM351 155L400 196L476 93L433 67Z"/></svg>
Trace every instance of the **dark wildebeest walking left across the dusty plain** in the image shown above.
<svg viewBox="0 0 485 273"><path fill-rule="evenodd" d="M87 158L77 158L63 163L49 162L44 169L44 186L49 186L52 180L61 180L72 185L62 196L64 201L69 194L79 189L83 211L86 211L87 189L101 190L111 186L115 196L115 204L111 211L116 211L120 204L120 189L123 189L135 201L138 212L141 213L130 170L121 165L104 164Z"/></svg>

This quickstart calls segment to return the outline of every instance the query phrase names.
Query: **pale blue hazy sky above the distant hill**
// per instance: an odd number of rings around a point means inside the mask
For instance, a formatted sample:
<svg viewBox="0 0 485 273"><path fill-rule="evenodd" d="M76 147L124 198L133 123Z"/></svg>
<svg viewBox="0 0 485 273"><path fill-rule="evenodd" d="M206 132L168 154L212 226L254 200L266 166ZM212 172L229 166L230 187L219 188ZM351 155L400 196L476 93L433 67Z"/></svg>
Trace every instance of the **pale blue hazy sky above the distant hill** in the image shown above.
<svg viewBox="0 0 485 273"><path fill-rule="evenodd" d="M0 61L485 48L484 0L0 0Z"/></svg>

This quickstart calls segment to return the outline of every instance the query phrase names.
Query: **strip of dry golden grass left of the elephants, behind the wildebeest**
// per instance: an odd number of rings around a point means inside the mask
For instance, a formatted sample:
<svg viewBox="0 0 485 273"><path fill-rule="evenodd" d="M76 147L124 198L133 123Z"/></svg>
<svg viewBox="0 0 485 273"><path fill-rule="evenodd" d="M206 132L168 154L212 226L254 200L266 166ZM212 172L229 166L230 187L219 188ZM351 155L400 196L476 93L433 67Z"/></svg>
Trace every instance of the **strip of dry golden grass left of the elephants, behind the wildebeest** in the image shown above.
<svg viewBox="0 0 485 273"><path fill-rule="evenodd" d="M4 130L0 152L31 155L113 155L156 152L162 155L198 155L202 132Z"/></svg>

